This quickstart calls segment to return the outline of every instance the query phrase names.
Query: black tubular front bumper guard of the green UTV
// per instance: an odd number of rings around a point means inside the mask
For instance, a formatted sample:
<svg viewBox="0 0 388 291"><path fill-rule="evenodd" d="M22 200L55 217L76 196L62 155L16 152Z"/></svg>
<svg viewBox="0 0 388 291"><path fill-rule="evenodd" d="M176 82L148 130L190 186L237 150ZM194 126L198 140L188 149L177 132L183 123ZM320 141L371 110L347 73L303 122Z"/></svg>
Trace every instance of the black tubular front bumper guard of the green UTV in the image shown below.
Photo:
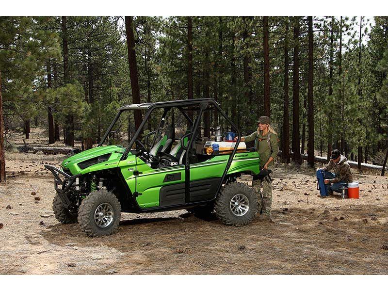
<svg viewBox="0 0 388 291"><path fill-rule="evenodd" d="M50 165L45 165L45 168L48 169L52 175L54 175L54 189L61 198L63 206L68 208L72 203L66 193L71 187L79 186L74 184L74 182L81 176L81 174L70 176L64 171ZM59 175L62 175L65 178L61 179Z"/></svg>

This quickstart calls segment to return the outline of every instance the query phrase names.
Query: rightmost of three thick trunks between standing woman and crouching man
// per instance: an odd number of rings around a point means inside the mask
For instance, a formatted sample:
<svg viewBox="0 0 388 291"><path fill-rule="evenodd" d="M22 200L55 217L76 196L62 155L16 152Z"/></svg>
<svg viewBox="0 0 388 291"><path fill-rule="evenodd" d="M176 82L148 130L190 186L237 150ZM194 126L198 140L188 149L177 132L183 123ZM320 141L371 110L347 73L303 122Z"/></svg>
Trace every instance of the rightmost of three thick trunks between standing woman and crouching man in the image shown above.
<svg viewBox="0 0 388 291"><path fill-rule="evenodd" d="M313 52L313 34L312 34L312 16L308 16L308 144L307 144L307 163L314 167L314 97L313 97L313 77L314 77L314 52Z"/></svg>

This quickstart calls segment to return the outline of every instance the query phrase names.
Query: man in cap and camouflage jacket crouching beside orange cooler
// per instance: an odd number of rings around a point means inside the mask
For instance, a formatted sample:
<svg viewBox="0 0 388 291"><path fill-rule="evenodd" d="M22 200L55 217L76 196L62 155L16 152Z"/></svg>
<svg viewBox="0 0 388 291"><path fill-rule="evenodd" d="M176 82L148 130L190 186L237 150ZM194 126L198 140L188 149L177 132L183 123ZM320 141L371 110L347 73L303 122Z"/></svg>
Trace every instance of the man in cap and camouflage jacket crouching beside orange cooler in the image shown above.
<svg viewBox="0 0 388 291"><path fill-rule="evenodd" d="M329 172L333 170L334 173ZM323 178L326 191L321 191L321 198L333 194L333 191L341 193L341 188L353 182L352 172L345 156L338 149L331 152L331 159L323 168L317 169L317 178ZM325 194L324 194L325 193Z"/></svg>

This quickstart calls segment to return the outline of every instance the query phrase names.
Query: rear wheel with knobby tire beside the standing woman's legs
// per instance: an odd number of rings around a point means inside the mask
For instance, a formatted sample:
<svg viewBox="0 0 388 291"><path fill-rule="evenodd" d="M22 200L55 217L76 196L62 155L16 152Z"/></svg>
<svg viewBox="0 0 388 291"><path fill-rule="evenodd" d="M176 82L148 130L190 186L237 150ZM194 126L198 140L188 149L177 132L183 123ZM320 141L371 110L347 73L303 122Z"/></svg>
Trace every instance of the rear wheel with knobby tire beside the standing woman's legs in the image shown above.
<svg viewBox="0 0 388 291"><path fill-rule="evenodd" d="M242 203L241 212L238 212L239 210L232 210L237 205L232 200L237 202L237 204L245 202ZM246 207L247 205L248 207ZM252 188L245 183L233 182L227 184L215 200L215 214L227 226L245 226L252 222L257 212L258 197Z"/></svg>

